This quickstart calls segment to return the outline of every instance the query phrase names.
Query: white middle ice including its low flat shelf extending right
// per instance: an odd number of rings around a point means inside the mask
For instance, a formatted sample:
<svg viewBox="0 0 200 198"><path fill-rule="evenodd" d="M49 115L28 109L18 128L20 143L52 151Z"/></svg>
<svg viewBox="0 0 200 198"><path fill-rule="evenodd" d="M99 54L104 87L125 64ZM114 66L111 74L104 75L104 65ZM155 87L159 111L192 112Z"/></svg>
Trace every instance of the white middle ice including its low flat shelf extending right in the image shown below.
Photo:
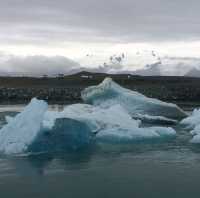
<svg viewBox="0 0 200 198"><path fill-rule="evenodd" d="M107 109L88 104L69 105L57 114L47 111L43 126L52 129L55 121L62 118L85 123L95 135L94 139L101 141L140 141L176 135L169 127L141 127L141 121L133 119L120 105Z"/></svg>

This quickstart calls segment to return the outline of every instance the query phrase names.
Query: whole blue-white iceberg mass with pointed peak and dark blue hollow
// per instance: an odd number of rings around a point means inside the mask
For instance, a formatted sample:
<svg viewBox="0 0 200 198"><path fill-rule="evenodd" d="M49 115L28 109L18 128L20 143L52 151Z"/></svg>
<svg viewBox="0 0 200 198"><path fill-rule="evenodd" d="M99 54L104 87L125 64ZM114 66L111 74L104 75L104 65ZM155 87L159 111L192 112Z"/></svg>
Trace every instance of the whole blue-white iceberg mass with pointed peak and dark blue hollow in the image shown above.
<svg viewBox="0 0 200 198"><path fill-rule="evenodd" d="M96 141L135 142L175 137L170 127L144 127L142 122L175 124L185 117L178 106L122 88L111 79L85 89L87 104L50 111L45 101L32 99L15 117L6 117L0 130L0 152L18 154L78 150Z"/></svg>

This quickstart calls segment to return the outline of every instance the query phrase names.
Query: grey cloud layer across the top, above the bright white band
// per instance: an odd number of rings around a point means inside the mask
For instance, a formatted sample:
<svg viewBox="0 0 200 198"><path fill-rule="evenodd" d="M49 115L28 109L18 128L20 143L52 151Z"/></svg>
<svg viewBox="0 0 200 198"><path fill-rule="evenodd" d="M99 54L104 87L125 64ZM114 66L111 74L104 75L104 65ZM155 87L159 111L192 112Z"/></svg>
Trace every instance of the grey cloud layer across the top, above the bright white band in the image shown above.
<svg viewBox="0 0 200 198"><path fill-rule="evenodd" d="M199 39L199 0L0 0L0 42Z"/></svg>

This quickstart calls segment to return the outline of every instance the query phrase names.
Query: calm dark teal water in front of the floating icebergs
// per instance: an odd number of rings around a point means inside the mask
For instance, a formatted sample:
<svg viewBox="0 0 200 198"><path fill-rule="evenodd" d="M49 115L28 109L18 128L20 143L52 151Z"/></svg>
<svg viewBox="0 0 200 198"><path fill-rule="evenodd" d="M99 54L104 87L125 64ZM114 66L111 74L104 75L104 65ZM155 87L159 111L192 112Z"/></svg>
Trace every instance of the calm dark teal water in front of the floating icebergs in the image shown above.
<svg viewBox="0 0 200 198"><path fill-rule="evenodd" d="M177 137L164 142L96 143L74 153L1 156L0 197L199 198L200 146L189 143L188 131L175 128Z"/></svg>

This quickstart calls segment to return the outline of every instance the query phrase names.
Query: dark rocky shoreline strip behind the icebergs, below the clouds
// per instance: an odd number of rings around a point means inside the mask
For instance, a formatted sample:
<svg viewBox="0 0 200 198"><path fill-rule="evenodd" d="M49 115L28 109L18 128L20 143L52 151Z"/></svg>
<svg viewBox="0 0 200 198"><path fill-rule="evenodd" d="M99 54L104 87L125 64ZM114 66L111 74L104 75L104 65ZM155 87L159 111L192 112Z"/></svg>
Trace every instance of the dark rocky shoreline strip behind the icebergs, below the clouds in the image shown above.
<svg viewBox="0 0 200 198"><path fill-rule="evenodd" d="M200 78L108 75L81 72L60 78L0 77L0 104L26 104L37 97L50 104L81 103L81 91L111 77L120 85L148 97L177 104L200 104Z"/></svg>

